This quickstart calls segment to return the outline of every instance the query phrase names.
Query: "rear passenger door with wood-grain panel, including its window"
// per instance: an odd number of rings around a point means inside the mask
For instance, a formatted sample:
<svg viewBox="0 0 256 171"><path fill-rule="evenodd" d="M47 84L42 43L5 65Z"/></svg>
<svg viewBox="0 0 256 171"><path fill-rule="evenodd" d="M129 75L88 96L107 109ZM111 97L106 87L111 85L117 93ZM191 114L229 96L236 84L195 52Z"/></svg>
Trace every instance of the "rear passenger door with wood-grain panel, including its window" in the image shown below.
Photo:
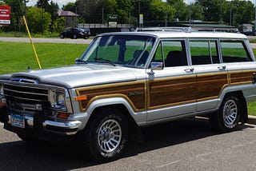
<svg viewBox="0 0 256 171"><path fill-rule="evenodd" d="M197 80L197 111L216 108L228 85L226 64L220 58L218 39L190 39L190 62Z"/></svg>

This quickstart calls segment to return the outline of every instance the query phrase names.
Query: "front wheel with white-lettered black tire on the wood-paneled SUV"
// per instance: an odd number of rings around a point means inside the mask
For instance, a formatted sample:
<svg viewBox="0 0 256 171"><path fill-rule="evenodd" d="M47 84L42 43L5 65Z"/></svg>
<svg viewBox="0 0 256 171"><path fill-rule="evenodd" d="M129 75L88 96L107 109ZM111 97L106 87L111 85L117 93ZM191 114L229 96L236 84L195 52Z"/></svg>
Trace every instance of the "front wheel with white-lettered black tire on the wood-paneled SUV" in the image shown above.
<svg viewBox="0 0 256 171"><path fill-rule="evenodd" d="M86 132L86 154L93 161L114 161L126 149L129 139L128 120L116 108L102 109L94 114L96 117Z"/></svg>

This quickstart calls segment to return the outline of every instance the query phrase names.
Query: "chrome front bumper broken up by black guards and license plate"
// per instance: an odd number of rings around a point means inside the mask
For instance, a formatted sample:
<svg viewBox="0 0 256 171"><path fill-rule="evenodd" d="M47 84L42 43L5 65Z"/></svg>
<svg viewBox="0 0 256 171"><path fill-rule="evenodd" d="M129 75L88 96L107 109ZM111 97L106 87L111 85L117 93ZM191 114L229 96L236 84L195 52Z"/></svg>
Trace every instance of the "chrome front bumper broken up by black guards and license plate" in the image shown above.
<svg viewBox="0 0 256 171"><path fill-rule="evenodd" d="M8 115L10 124L10 115ZM34 128L34 117L24 116L26 126ZM58 134L74 135L82 125L81 121L42 121L42 130Z"/></svg>

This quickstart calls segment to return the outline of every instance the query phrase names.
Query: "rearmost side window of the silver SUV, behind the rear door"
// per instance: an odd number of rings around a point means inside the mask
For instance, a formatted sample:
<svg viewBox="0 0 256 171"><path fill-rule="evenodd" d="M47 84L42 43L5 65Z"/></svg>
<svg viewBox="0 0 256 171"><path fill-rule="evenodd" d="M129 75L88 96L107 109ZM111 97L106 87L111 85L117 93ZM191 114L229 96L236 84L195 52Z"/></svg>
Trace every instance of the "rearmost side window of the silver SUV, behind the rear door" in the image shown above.
<svg viewBox="0 0 256 171"><path fill-rule="evenodd" d="M251 62L250 54L242 41L221 41L223 62Z"/></svg>

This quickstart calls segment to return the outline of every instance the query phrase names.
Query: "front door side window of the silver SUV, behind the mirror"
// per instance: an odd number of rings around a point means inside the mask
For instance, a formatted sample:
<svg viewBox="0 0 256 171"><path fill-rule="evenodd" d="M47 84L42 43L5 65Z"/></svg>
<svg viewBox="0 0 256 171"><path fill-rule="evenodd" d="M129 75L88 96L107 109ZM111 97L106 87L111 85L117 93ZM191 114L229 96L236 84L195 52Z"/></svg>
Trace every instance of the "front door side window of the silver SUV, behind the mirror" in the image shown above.
<svg viewBox="0 0 256 171"><path fill-rule="evenodd" d="M165 66L187 66L185 41L162 41L156 54L154 62L162 62Z"/></svg>

